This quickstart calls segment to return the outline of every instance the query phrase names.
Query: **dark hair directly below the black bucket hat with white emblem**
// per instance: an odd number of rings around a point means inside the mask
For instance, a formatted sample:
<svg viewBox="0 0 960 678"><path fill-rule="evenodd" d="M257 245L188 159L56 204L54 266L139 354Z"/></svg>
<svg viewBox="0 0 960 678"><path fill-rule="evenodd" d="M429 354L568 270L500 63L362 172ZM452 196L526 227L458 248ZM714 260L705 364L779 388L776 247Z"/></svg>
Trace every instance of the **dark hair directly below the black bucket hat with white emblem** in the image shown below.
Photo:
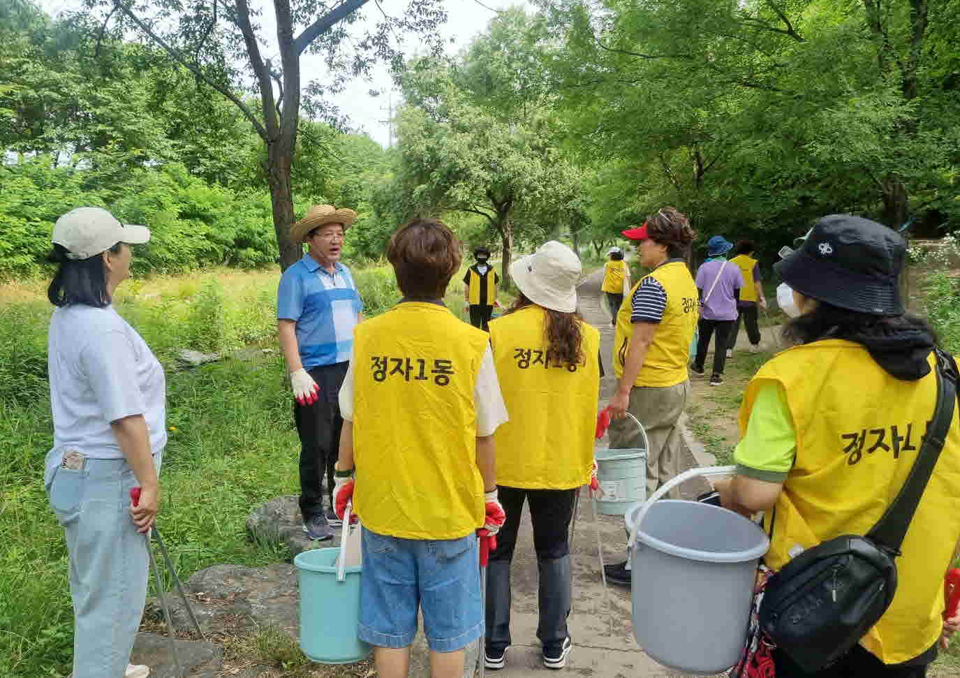
<svg viewBox="0 0 960 678"><path fill-rule="evenodd" d="M861 313L817 300L816 307L783 326L783 338L790 344L810 344L820 339L888 336L898 329L921 328L937 343L937 333L923 318L910 313L878 316ZM909 348L904 351L910 351Z"/></svg>

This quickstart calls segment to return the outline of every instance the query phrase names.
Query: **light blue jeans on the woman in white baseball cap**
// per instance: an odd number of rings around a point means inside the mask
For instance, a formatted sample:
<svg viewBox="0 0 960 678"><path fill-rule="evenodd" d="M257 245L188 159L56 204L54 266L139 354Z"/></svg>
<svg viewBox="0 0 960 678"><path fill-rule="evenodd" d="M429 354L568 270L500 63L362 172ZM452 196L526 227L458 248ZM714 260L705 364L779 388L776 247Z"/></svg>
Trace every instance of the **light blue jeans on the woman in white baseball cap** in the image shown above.
<svg viewBox="0 0 960 678"><path fill-rule="evenodd" d="M147 537L130 516L138 483L126 459L85 459L61 466L63 448L46 458L44 485L66 533L73 598L73 678L123 678L147 597ZM159 472L162 452L154 453Z"/></svg>

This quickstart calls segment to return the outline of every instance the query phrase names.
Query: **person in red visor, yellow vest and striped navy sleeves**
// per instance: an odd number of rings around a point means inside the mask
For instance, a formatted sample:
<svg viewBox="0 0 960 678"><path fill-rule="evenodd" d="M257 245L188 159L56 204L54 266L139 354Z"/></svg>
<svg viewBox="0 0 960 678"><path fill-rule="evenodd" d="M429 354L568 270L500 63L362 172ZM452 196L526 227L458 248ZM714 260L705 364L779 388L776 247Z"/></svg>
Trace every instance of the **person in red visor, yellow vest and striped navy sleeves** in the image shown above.
<svg viewBox="0 0 960 678"><path fill-rule="evenodd" d="M639 448L641 436L626 419L629 411L646 429L647 494L680 472L683 443L677 420L690 393L690 343L697 326L697 287L684 261L696 232L675 207L663 207L639 229L623 234L636 242L640 265L650 271L620 306L613 340L610 400L611 448ZM628 562L609 565L607 578L630 586Z"/></svg>

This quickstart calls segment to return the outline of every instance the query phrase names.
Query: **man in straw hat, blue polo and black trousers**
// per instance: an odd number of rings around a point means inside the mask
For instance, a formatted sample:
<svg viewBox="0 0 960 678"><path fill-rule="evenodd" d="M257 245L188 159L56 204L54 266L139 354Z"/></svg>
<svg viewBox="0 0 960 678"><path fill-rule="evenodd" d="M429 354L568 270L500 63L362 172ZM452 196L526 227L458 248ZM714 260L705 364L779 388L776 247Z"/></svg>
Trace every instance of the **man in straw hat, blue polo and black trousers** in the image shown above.
<svg viewBox="0 0 960 678"><path fill-rule="evenodd" d="M300 435L300 514L303 531L314 540L332 538L330 526L341 524L332 499L324 508L321 483L326 472L330 497L344 424L337 395L347 375L353 328L363 311L349 269L340 263L344 233L356 217L352 209L310 207L290 229L290 239L306 243L309 251L283 272L276 291L280 349L290 372Z"/></svg>

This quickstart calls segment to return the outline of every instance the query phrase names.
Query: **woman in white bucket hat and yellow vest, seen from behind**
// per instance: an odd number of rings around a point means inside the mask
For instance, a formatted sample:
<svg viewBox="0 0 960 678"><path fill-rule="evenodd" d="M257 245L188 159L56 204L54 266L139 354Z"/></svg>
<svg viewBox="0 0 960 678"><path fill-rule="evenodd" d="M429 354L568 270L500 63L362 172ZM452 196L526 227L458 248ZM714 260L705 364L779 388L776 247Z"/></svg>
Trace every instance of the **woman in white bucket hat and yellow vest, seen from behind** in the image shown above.
<svg viewBox="0 0 960 678"><path fill-rule="evenodd" d="M496 484L507 520L488 567L485 666L505 663L510 565L523 502L530 506L540 566L543 665L563 668L572 642L567 531L590 481L597 414L600 332L577 313L579 257L550 241L510 268L520 295L490 324L493 362L510 421L496 429ZM524 640L522 642L527 642Z"/></svg>

